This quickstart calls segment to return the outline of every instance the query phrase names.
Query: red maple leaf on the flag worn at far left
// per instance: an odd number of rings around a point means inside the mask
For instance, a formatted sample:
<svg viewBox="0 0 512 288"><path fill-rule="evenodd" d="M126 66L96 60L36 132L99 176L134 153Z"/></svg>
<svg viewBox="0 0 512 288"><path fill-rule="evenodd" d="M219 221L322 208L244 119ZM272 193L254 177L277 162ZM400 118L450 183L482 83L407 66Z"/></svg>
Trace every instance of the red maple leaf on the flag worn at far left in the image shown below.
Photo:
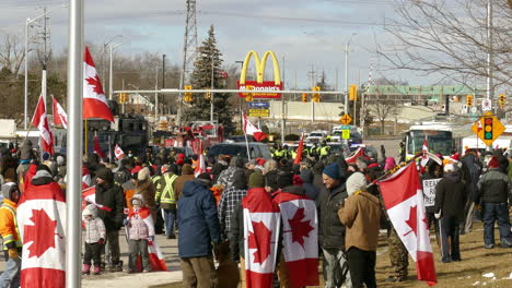
<svg viewBox="0 0 512 288"><path fill-rule="evenodd" d="M25 226L24 242L33 241L28 247L28 257L40 257L46 250L55 248L57 220L51 220L44 209L33 209L31 220L34 225Z"/></svg>

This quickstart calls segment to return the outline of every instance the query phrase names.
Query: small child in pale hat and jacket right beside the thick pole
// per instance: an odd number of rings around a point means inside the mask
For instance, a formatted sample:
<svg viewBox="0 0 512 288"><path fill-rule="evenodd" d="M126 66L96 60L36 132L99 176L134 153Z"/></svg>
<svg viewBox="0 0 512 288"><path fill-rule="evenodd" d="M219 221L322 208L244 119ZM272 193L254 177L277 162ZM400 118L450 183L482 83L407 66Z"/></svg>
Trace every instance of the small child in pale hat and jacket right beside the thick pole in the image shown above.
<svg viewBox="0 0 512 288"><path fill-rule="evenodd" d="M90 274L91 260L93 260L93 274L100 275L101 248L105 244L105 224L97 217L97 208L94 204L89 204L83 209L82 220L85 225L85 254L83 256L82 274Z"/></svg>

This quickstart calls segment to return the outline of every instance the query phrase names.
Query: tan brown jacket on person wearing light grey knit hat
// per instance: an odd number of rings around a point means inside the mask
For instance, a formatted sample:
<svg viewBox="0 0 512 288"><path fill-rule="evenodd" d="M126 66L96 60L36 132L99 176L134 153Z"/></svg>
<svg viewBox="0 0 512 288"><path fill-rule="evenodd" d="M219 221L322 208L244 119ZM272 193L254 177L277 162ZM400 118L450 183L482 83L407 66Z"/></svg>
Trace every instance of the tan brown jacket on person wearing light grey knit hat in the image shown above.
<svg viewBox="0 0 512 288"><path fill-rule="evenodd" d="M381 204L369 192L350 195L338 212L340 221L347 227L346 248L376 251L381 223Z"/></svg>

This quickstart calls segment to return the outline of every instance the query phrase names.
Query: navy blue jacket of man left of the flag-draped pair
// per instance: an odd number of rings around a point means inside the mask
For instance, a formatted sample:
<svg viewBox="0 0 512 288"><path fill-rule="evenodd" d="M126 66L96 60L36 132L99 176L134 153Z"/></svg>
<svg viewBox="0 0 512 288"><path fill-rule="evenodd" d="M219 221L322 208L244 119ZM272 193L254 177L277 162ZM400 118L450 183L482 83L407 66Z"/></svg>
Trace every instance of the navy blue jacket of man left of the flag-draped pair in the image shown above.
<svg viewBox="0 0 512 288"><path fill-rule="evenodd" d="M220 243L216 200L200 180L187 181L177 203L179 257L211 254L211 242Z"/></svg>

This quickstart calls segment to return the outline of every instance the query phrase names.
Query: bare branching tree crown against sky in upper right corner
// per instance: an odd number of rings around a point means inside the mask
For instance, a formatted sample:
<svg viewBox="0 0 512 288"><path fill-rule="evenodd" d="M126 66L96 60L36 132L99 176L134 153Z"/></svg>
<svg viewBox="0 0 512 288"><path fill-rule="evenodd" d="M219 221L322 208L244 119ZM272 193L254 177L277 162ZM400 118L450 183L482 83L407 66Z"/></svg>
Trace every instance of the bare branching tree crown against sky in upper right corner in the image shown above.
<svg viewBox="0 0 512 288"><path fill-rule="evenodd" d="M441 73L467 83L487 77L487 52L493 51L494 87L512 83L512 9L493 0L493 41L487 37L487 0L395 0L386 20L391 48L379 49L393 69Z"/></svg>

